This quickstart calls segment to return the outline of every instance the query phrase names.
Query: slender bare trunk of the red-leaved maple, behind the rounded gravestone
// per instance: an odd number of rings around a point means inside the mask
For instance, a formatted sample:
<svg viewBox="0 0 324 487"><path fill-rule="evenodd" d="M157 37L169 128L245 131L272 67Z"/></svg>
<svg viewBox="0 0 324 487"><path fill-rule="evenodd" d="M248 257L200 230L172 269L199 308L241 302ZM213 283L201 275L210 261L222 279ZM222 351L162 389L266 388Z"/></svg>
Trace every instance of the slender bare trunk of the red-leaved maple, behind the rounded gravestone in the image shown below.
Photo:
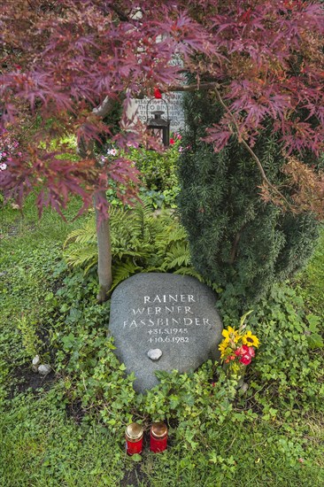
<svg viewBox="0 0 324 487"><path fill-rule="evenodd" d="M103 219L96 209L98 198L106 198L105 191L99 191L95 198L96 211L96 238L98 244L98 278L99 278L99 292L97 300L103 303L108 299L108 291L112 287L112 244L109 220Z"/></svg>

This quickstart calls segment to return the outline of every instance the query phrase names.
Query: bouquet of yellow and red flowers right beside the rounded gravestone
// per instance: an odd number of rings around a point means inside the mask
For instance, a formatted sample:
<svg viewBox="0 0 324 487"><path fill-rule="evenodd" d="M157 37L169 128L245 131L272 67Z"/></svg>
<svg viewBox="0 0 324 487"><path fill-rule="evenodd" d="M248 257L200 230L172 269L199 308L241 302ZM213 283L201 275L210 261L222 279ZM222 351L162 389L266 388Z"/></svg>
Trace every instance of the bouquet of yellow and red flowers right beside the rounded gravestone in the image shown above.
<svg viewBox="0 0 324 487"><path fill-rule="evenodd" d="M219 346L220 359L223 364L226 364L225 368L229 376L243 375L243 370L255 356L255 348L258 348L258 337L252 335L250 330L244 332L246 327L244 321L250 313L252 312L243 315L238 329L228 327L222 331L224 339Z"/></svg>

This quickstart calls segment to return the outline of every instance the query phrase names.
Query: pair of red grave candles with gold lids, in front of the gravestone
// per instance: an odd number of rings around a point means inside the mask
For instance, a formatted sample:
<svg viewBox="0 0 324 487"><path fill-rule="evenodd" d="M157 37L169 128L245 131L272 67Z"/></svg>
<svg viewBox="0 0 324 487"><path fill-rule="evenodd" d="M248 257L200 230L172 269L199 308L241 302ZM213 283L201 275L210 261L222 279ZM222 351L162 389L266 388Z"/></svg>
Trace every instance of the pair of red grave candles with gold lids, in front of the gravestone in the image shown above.
<svg viewBox="0 0 324 487"><path fill-rule="evenodd" d="M126 429L126 451L128 455L142 453L143 426L136 422L128 424ZM167 428L164 422L153 422L150 428L150 451L154 453L166 450Z"/></svg>

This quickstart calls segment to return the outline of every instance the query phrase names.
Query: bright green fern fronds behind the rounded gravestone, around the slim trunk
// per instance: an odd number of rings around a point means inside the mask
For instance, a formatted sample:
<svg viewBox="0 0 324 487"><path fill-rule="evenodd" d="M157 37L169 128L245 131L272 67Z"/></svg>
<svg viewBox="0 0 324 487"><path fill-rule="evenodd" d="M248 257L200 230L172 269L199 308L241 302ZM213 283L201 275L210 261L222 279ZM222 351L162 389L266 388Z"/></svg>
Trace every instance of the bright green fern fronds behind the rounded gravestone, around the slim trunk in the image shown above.
<svg viewBox="0 0 324 487"><path fill-rule="evenodd" d="M133 209L113 208L110 216L112 231L113 282L139 272L174 272L201 277L190 266L187 235L171 213L152 213L150 203ZM81 266L87 273L96 266L96 229L92 220L66 238L66 262Z"/></svg>

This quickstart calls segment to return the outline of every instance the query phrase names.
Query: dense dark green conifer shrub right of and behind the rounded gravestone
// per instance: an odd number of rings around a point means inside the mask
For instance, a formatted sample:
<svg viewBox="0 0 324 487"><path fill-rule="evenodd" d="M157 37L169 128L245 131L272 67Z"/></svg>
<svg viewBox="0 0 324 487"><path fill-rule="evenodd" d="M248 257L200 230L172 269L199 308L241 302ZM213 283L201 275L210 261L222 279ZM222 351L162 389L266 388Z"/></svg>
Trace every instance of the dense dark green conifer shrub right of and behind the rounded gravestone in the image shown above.
<svg viewBox="0 0 324 487"><path fill-rule="evenodd" d="M211 103L203 93L185 99L188 130L182 140L178 205L197 272L217 283L221 299L242 311L274 282L305 265L319 222L311 213L284 213L262 201L258 168L234 136L220 152L202 141L205 128L220 116L220 111L212 114ZM282 147L270 124L253 150L269 180L289 198L281 171ZM307 162L318 164L310 158Z"/></svg>

